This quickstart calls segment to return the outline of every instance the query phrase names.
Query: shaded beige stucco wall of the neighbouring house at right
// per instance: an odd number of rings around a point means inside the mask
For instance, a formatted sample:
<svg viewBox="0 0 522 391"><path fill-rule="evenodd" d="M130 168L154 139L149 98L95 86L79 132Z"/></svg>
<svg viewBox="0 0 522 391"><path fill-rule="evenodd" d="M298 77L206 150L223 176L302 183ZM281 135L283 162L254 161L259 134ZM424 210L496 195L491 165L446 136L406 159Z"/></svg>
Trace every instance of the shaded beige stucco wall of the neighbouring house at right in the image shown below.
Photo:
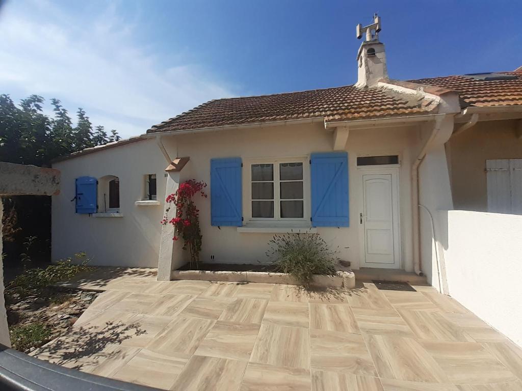
<svg viewBox="0 0 522 391"><path fill-rule="evenodd" d="M522 158L515 120L483 121L446 144L455 209L488 211L485 161Z"/></svg>

